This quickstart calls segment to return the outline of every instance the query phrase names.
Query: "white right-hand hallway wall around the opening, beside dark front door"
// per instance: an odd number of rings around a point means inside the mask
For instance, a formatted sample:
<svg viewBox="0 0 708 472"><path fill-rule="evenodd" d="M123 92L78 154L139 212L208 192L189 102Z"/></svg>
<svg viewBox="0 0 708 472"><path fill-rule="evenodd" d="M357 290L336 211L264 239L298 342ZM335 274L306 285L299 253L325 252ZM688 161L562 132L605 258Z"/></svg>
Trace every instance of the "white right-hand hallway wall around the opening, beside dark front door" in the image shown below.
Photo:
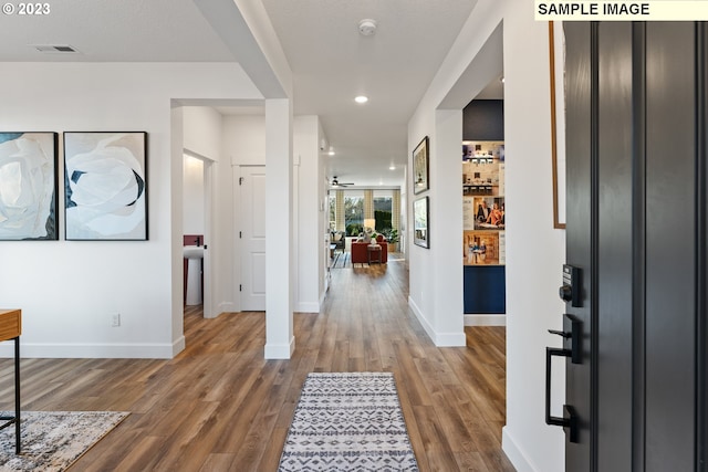
<svg viewBox="0 0 708 472"><path fill-rule="evenodd" d="M480 14L481 13L481 14ZM457 326L462 311L442 311L439 297L462 298L439 283L435 264L446 265L462 276L461 260L450 261L446 248L459 245L461 193L451 196L445 182L459 180L459 146L437 140L452 139L445 122L447 112L437 111L479 53L494 28L503 23L504 138L507 153L507 426L503 449L519 471L553 472L564 469L563 432L544 423L544 348L558 345L546 333L561 326L563 305L558 300L560 270L565 252L564 233L553 229L548 24L533 21L532 6L521 8L516 0L479 0L450 54L440 66L408 126L409 155L423 136L430 136L429 250L409 245L410 304L437 337ZM469 99L479 90L470 87ZM446 106L449 106L449 102ZM449 156L441 149L457 153ZM446 159L458 164L448 166ZM412 162L409 162L410 165ZM532 182L532 185L530 185ZM408 182L408 185L410 185ZM409 193L412 201L419 196ZM410 238L410 228L407 231ZM529 247L533 241L533 248ZM456 270L455 268L458 268ZM450 286L458 290L459 283ZM558 378L552 398L562 405L563 381ZM555 411L554 413L559 413Z"/></svg>

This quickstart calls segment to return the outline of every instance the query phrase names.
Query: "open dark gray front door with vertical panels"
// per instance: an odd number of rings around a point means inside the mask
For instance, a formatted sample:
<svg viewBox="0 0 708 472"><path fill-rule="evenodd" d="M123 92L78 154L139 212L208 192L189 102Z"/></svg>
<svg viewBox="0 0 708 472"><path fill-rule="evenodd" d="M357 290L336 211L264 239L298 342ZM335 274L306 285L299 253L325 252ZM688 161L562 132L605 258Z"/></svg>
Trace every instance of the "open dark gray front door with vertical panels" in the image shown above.
<svg viewBox="0 0 708 472"><path fill-rule="evenodd" d="M707 36L565 23L568 471L706 470Z"/></svg>

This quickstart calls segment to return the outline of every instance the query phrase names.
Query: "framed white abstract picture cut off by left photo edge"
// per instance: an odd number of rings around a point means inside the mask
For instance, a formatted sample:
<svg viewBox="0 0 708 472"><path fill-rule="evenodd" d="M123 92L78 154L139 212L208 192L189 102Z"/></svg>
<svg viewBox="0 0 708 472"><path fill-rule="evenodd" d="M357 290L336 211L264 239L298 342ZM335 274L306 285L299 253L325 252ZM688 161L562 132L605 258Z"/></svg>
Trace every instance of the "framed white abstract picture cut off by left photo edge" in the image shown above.
<svg viewBox="0 0 708 472"><path fill-rule="evenodd" d="M0 133L0 241L59 239L56 133Z"/></svg>

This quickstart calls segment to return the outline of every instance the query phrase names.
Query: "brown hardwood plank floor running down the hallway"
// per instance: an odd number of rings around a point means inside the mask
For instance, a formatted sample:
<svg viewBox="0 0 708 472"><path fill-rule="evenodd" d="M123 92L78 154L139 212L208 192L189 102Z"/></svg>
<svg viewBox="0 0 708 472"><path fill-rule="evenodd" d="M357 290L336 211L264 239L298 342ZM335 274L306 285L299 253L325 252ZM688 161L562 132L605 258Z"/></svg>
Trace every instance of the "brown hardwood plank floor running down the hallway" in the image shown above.
<svg viewBox="0 0 708 472"><path fill-rule="evenodd" d="M295 314L295 353L264 360L263 313L185 314L171 360L22 359L23 410L131 416L76 471L275 471L310 371L392 371L421 471L513 471L501 451L504 328L437 348L408 311L403 262L333 270L320 314ZM0 408L12 407L0 360Z"/></svg>

